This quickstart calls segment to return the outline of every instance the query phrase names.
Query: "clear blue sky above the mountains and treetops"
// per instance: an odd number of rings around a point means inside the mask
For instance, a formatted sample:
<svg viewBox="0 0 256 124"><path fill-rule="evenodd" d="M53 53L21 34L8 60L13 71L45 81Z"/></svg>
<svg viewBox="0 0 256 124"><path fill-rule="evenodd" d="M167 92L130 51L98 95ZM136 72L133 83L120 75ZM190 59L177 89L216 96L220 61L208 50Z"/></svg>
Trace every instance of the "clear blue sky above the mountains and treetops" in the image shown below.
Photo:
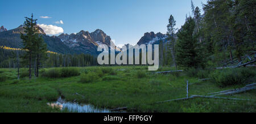
<svg viewBox="0 0 256 124"><path fill-rule="evenodd" d="M206 2L193 0L200 9ZM0 26L16 28L32 13L48 35L101 29L117 46L137 44L145 32L166 34L171 14L176 28L192 14L191 0L1 0Z"/></svg>

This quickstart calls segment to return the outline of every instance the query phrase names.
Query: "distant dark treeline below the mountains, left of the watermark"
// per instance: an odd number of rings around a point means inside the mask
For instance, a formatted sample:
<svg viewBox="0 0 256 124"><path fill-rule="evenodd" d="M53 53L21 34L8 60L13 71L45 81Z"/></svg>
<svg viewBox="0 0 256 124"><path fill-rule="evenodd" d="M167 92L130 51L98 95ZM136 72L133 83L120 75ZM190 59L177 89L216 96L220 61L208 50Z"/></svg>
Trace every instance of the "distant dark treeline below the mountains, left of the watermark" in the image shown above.
<svg viewBox="0 0 256 124"><path fill-rule="evenodd" d="M18 68L17 56L23 56L26 51L0 48L0 68ZM26 61L20 59L19 68L28 68ZM35 61L32 60L32 61ZM41 62L40 68L51 67L86 67L97 65L97 58L92 55L63 55L59 53L47 53L47 58ZM32 68L35 68L32 63ZM34 69L33 69L34 70Z"/></svg>

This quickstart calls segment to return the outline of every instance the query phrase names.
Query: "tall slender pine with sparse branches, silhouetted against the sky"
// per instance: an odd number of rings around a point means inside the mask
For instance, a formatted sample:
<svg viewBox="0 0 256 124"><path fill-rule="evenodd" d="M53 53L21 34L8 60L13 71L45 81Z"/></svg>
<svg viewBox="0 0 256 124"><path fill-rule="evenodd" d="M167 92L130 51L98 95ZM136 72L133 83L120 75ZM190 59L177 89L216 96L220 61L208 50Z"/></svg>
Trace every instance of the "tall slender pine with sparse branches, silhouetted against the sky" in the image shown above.
<svg viewBox="0 0 256 124"><path fill-rule="evenodd" d="M177 64L176 64L176 60L175 60L175 48L174 48L174 43L175 43L174 35L175 35L175 31L177 30L175 28L175 26L176 26L176 20L174 20L174 16L170 15L169 24L167 25L167 35L168 35L167 39L172 42L172 51L171 51L172 60L174 62L175 67L177 68ZM168 46L171 46L171 44L168 44ZM169 48L168 48L168 50L169 50Z"/></svg>

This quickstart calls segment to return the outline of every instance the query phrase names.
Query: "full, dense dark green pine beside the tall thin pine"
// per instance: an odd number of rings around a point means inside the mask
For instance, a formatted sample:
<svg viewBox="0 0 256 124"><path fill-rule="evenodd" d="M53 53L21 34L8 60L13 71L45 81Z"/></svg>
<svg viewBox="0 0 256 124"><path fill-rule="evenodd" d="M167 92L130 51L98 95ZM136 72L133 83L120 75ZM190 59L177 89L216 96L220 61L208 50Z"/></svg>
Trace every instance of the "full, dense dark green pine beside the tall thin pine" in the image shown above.
<svg viewBox="0 0 256 124"><path fill-rule="evenodd" d="M195 32L195 20L189 16L185 24L177 33L176 60L181 67L199 68L204 61L200 55L200 46L197 42L198 34Z"/></svg>

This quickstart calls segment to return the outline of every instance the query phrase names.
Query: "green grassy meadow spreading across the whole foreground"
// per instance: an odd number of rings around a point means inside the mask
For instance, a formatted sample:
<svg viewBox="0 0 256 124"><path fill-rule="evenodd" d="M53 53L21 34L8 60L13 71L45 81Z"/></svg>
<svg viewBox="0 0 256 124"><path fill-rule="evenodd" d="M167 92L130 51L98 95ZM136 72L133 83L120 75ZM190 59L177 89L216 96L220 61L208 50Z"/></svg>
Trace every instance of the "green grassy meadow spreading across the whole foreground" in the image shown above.
<svg viewBox="0 0 256 124"><path fill-rule="evenodd" d="M61 76L61 71L42 69L42 76L26 76L16 80L15 69L0 69L3 80L0 82L0 112L58 112L51 109L47 102L56 101L64 96L67 101L93 104L100 108L115 109L128 106L127 111L139 112L255 112L255 101L234 101L211 98L172 101L152 104L157 101L171 100L186 96L186 83L189 80L189 95L206 95L221 90L239 88L255 81L250 77L244 83L219 85L222 81L214 71L184 71L168 75L154 74L146 66L85 67L72 69L68 76ZM254 68L246 68L253 71ZM74 71L75 70L75 71ZM174 68L160 68L160 71ZM77 73L79 71L79 74ZM47 76L43 73L55 72L60 76ZM75 73L75 75L72 75ZM55 78L53 78L55 77ZM96 77L96 78L93 78ZM218 79L198 81L201 77ZM82 96L76 95L79 93ZM256 91L224 97L247 98L256 100Z"/></svg>

